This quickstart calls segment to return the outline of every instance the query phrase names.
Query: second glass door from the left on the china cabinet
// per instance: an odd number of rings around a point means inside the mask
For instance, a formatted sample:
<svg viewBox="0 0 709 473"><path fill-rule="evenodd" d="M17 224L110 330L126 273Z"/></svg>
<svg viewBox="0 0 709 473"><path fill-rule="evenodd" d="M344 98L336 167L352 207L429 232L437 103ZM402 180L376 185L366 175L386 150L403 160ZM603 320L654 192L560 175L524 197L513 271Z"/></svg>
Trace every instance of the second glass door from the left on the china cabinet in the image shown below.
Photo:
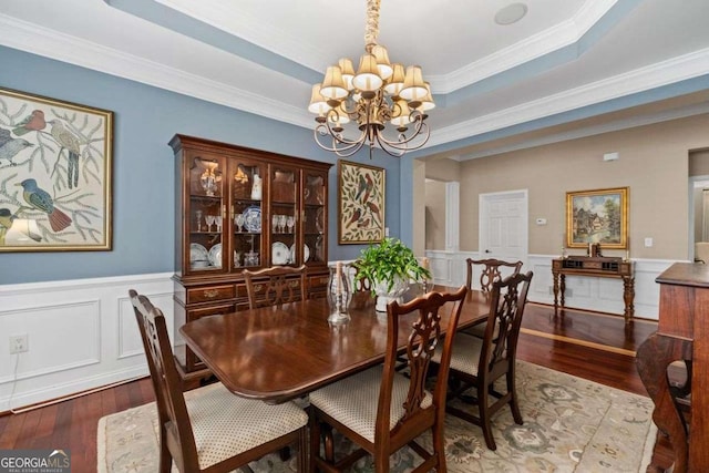
<svg viewBox="0 0 709 473"><path fill-rule="evenodd" d="M249 160L235 160L229 173L232 185L232 265L254 269L266 266L264 260L264 179L266 165Z"/></svg>

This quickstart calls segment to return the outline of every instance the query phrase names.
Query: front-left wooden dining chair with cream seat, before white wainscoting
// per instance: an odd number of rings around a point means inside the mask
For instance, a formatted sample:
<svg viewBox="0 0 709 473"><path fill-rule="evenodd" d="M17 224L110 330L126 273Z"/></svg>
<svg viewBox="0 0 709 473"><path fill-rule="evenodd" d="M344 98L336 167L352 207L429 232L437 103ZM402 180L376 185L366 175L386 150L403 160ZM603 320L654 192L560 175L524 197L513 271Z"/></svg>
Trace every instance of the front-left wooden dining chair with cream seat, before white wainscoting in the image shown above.
<svg viewBox="0 0 709 473"><path fill-rule="evenodd" d="M308 415L292 402L269 405L239 398L224 384L191 391L185 398L163 312L130 290L155 391L160 423L160 471L173 462L185 472L230 472L291 444L298 471L307 467ZM152 432L144 432L152 435Z"/></svg>

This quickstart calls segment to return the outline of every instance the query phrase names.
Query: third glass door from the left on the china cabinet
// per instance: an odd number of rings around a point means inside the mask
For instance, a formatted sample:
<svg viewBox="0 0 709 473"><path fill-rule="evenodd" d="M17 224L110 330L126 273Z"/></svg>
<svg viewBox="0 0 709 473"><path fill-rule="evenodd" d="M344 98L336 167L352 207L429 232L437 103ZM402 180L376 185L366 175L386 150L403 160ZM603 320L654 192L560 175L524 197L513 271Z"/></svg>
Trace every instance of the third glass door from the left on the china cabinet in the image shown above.
<svg viewBox="0 0 709 473"><path fill-rule="evenodd" d="M298 249L298 189L300 173L295 167L270 166L270 264L299 265L304 256Z"/></svg>

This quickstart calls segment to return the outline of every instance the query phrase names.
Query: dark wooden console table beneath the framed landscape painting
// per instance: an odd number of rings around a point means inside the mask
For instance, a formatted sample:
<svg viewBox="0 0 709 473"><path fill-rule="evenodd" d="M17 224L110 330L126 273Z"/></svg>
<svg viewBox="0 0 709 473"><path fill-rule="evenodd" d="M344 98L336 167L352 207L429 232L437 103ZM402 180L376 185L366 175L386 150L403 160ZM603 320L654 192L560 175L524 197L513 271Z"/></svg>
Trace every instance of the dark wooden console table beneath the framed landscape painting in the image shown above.
<svg viewBox="0 0 709 473"><path fill-rule="evenodd" d="M623 300L625 310L623 317L626 325L633 319L635 307L635 276L633 261L626 261L623 258L604 257L604 256L569 256L566 258L557 258L552 260L552 274L554 276L554 311L561 306L564 307L564 291L566 290L566 275L569 276L590 276L600 278L618 278L623 279Z"/></svg>

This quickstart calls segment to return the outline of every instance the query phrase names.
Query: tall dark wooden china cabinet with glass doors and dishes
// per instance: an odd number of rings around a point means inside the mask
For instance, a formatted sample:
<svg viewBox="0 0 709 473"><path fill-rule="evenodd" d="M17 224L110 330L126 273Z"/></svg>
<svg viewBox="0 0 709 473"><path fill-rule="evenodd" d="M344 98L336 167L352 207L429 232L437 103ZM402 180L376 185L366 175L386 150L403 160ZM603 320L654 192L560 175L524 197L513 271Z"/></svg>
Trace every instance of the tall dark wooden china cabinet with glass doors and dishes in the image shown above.
<svg viewBox="0 0 709 473"><path fill-rule="evenodd" d="M308 297L328 282L329 163L175 135L175 333L248 308L244 269L308 267ZM182 343L184 373L203 369Z"/></svg>

